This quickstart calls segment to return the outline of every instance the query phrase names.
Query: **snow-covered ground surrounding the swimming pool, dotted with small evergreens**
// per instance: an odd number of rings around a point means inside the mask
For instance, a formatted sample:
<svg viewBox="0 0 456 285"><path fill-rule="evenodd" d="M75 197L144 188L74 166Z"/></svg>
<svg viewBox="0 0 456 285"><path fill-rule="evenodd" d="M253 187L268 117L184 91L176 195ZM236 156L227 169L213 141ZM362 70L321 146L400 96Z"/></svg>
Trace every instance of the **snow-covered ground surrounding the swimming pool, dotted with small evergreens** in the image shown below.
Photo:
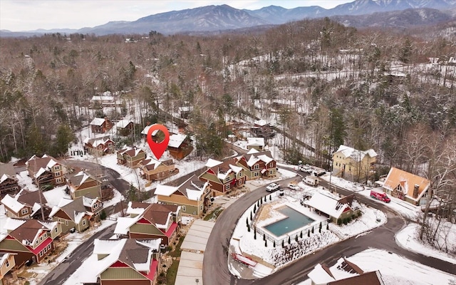
<svg viewBox="0 0 456 285"><path fill-rule="evenodd" d="M274 209L284 205L289 205L306 216L311 217L315 220L314 224L316 227L314 226L314 229L316 228L316 230L314 230L314 233L309 234L308 229L305 229L304 234L301 237L301 230L298 229L298 232L295 231L291 234L286 234L287 237L290 237L291 243L289 243L288 239L285 238L284 247L282 247L281 242L277 242L276 247L274 247L273 242L270 240L265 242L262 234L257 234L257 239L255 239L253 230L251 229L251 232L249 232L246 223L244 223L244 221L249 219L250 213L254 208L254 205L252 205L252 207L247 209L247 211L242 214L242 217L239 218L239 224L237 224L237 227L234 229L230 242L231 249L237 254L247 254L258 257L259 259L266 261L268 264L275 266L276 269L279 269L297 258L305 257L307 254L311 254L323 247L328 247L331 244L341 241L341 239L348 239L349 237L354 237L363 232L367 232L368 230L378 227L380 224L384 224L386 222L386 215L383 214L383 212L380 212L378 209L366 207L363 204L358 204L358 207L360 207L361 212L363 213L361 217L358 217L353 222L342 225L341 227L333 224L329 225L328 230L326 227L322 227L320 233L318 231L318 224L320 222L324 223L326 221L326 217L318 216L318 214L312 211L309 207L304 207L301 205L300 200L304 193L310 195L313 195L314 192L321 192L326 195L331 195L331 193L323 190L322 187L307 187L302 182L299 182L299 186L304 188L302 192L289 191L286 195L281 197L279 196L279 192L274 192L272 194L272 201L269 202L268 197L265 203L274 203ZM275 220L281 219L281 214L270 211L268 215L263 217L264 220L259 221L257 223L257 227L261 227L262 225L270 224ZM379 222L377 222L377 219ZM296 241L296 236L298 236L298 241ZM279 238L283 239L283 237ZM239 268L235 269L235 267L231 265L229 267L232 274L239 277L242 276L242 274L238 271ZM275 269L269 269L269 272L265 271L264 266L261 266L261 269L252 269L254 272L258 271L258 276L265 276L275 271Z"/></svg>

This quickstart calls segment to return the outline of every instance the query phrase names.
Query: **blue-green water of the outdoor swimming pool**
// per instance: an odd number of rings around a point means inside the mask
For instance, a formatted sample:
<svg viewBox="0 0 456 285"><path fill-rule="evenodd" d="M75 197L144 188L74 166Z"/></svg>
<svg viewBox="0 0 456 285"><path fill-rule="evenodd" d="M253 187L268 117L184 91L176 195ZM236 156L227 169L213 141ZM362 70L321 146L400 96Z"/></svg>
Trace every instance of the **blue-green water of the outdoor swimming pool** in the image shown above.
<svg viewBox="0 0 456 285"><path fill-rule="evenodd" d="M278 209L279 212L286 216L285 219L281 219L278 222L268 224L265 229L274 234L276 237L280 237L283 234L293 232L295 229L304 227L314 222L314 219L307 217L305 214L301 214L295 209L291 209L288 206Z"/></svg>

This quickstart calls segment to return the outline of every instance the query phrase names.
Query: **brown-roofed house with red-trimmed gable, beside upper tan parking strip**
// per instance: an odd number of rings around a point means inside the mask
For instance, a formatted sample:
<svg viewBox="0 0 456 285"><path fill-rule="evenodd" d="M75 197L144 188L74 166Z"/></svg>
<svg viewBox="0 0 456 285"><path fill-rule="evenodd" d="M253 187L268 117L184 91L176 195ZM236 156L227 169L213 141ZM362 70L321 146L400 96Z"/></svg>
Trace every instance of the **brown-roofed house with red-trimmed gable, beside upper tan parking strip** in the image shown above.
<svg viewBox="0 0 456 285"><path fill-rule="evenodd" d="M181 207L170 204L129 202L127 214L118 218L114 233L130 239L161 239L168 245L179 232Z"/></svg>

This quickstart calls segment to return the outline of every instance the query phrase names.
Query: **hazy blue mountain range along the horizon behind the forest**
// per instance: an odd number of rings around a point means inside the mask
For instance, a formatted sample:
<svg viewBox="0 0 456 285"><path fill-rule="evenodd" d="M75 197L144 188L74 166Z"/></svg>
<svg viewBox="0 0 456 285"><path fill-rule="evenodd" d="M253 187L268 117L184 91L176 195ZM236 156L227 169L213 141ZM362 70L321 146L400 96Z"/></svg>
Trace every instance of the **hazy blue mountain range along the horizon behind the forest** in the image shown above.
<svg viewBox="0 0 456 285"><path fill-rule="evenodd" d="M294 9L267 6L258 10L247 10L219 5L154 14L136 21L110 21L100 26L77 30L1 30L0 36L33 36L42 33L147 34L150 31L163 34L204 33L277 25L325 16L346 26L410 26L450 21L454 19L455 11L456 0L356 0L333 9L323 9L320 6Z"/></svg>

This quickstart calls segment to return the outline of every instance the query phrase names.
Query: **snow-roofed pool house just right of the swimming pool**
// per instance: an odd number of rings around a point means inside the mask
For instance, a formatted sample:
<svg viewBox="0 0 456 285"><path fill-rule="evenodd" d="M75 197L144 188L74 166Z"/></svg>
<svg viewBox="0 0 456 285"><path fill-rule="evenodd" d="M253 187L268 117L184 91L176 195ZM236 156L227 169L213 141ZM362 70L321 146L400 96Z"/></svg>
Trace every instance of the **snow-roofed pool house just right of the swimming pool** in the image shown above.
<svg viewBox="0 0 456 285"><path fill-rule="evenodd" d="M348 195L342 198L325 195L320 192L315 192L309 201L305 204L321 214L326 215L335 224L340 224L344 219L353 216L358 217L360 212L359 207L353 205L355 195Z"/></svg>

